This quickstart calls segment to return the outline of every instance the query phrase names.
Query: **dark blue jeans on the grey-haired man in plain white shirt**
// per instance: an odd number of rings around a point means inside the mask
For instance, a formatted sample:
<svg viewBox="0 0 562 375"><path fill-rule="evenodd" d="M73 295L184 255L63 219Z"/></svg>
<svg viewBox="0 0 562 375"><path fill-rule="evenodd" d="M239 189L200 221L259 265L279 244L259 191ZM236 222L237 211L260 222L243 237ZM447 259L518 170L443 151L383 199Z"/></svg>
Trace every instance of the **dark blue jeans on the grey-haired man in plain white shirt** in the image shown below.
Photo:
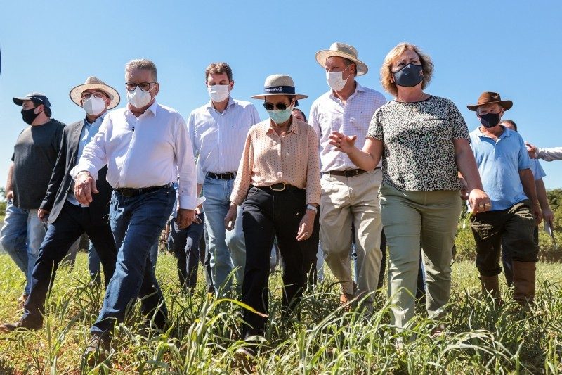
<svg viewBox="0 0 562 375"><path fill-rule="evenodd" d="M150 248L158 241L175 201L173 187L129 198L113 192L110 225L118 249L117 264L92 334L110 335L113 326L124 321L137 297L141 298L141 313L164 328L168 310L152 267Z"/></svg>

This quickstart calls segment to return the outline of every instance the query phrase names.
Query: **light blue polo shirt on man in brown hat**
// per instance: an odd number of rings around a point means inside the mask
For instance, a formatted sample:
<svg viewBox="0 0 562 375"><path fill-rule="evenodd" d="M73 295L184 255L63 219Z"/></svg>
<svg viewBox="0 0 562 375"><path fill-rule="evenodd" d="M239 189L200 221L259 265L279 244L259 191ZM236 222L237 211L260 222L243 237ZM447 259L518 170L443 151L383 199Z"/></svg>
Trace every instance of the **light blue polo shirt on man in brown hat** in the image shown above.
<svg viewBox="0 0 562 375"><path fill-rule="evenodd" d="M519 178L519 171L531 167L523 138L502 126L504 132L494 141L480 131L470 133L470 146L484 191L492 201L492 211L506 210L527 199Z"/></svg>

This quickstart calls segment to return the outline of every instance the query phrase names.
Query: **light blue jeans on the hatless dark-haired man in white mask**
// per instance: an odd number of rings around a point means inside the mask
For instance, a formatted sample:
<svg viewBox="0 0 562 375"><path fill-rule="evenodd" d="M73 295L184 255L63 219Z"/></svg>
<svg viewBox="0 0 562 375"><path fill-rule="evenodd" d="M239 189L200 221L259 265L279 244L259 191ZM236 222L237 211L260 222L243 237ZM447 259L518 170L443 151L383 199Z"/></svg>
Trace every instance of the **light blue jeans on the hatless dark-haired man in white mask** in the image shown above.
<svg viewBox="0 0 562 375"><path fill-rule="evenodd" d="M202 196L205 212L207 235L209 236L209 255L211 257L211 275L217 295L232 287L228 274L236 267L237 289L242 288L244 265L246 264L246 246L242 231L242 206L237 210L237 220L232 231L226 231L224 217L230 207L230 193L234 179L205 178Z"/></svg>

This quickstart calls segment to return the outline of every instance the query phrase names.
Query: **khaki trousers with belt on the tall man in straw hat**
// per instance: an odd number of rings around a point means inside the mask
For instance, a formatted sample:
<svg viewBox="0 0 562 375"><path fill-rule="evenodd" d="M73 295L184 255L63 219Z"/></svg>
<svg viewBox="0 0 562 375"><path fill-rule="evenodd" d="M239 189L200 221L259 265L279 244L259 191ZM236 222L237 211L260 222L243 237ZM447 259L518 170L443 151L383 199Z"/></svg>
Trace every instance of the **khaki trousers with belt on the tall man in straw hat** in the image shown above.
<svg viewBox="0 0 562 375"><path fill-rule="evenodd" d="M357 295L377 290L381 267L381 210L376 169L354 177L322 175L320 242L325 261L344 293L353 294L351 224L357 246ZM372 298L371 298L372 299Z"/></svg>

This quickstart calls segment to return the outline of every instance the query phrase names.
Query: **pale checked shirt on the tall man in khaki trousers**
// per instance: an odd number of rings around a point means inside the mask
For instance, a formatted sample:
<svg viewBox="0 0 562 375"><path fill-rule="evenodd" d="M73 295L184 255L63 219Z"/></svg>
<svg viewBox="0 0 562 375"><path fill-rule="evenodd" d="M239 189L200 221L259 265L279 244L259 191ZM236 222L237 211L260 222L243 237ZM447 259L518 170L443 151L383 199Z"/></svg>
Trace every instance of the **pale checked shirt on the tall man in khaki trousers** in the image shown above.
<svg viewBox="0 0 562 375"><path fill-rule="evenodd" d="M318 134L322 173L357 168L348 155L336 151L336 148L329 144L329 134L336 131L347 136L356 135L355 146L361 149L365 145L365 136L374 111L386 103L386 98L379 91L362 87L359 82L356 84L355 92L347 99L345 105L331 90L312 104L308 123ZM380 165L381 163L378 166Z"/></svg>

